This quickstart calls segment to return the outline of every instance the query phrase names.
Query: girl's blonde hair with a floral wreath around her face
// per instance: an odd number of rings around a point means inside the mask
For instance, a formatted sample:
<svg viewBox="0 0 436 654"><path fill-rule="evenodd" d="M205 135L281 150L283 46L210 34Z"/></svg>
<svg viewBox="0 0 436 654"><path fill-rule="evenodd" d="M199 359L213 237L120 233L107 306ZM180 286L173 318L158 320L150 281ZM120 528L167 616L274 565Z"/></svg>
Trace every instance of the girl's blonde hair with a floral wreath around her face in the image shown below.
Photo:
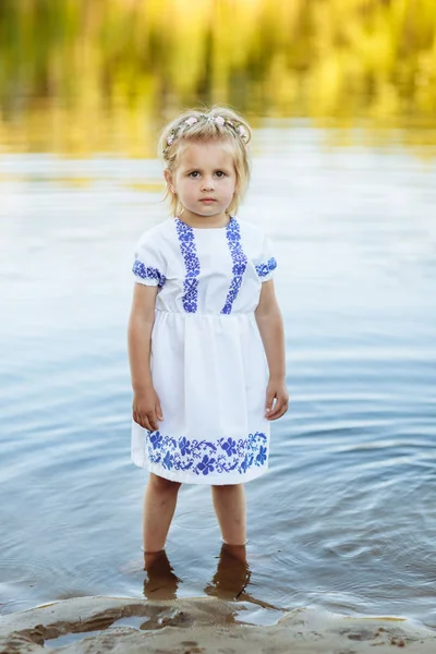
<svg viewBox="0 0 436 654"><path fill-rule="evenodd" d="M250 162L247 144L252 132L247 122L232 109L211 107L206 111L192 109L170 122L159 138L159 155L164 157L167 169L175 172L178 159L186 144L207 143L210 141L229 143L233 149L237 183L233 199L226 209L227 214L235 214L239 203L250 180ZM177 193L167 183L165 198L169 198L173 216L178 216L183 207Z"/></svg>

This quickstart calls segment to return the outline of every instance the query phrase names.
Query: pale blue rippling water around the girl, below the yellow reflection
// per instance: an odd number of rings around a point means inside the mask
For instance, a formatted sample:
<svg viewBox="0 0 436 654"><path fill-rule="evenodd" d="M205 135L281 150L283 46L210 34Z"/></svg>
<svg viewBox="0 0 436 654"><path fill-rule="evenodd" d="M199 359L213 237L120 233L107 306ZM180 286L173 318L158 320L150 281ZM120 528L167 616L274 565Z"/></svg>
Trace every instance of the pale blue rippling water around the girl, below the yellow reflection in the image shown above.
<svg viewBox="0 0 436 654"><path fill-rule="evenodd" d="M291 393L246 486L240 598L261 623L318 606L436 627L436 164L328 138L257 132L240 213L276 243ZM159 184L153 160L0 157L0 613L156 590L125 329ZM220 593L204 487L182 487L167 553L174 595Z"/></svg>

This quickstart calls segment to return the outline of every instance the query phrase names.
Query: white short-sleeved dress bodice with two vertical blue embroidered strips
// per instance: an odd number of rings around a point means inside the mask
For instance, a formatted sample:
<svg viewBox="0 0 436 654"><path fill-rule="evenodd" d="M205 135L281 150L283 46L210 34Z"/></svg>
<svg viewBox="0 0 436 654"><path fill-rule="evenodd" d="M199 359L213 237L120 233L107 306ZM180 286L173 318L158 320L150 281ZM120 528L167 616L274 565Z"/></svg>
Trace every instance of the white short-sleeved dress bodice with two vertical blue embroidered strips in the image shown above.
<svg viewBox="0 0 436 654"><path fill-rule="evenodd" d="M249 222L209 229L170 218L143 234L133 272L159 287L157 311L229 315L256 308L276 266L268 237Z"/></svg>

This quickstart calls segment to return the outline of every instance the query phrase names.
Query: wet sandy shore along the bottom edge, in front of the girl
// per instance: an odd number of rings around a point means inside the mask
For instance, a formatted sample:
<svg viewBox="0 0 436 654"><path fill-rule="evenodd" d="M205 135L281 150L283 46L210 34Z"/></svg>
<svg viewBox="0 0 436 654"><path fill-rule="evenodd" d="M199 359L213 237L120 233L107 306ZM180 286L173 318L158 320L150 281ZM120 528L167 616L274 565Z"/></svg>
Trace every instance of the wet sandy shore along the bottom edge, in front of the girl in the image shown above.
<svg viewBox="0 0 436 654"><path fill-rule="evenodd" d="M147 601L74 597L3 616L0 652L99 654L434 653L436 632L409 620L288 611L277 623L244 623L250 603L217 597ZM376 650L374 650L376 647Z"/></svg>

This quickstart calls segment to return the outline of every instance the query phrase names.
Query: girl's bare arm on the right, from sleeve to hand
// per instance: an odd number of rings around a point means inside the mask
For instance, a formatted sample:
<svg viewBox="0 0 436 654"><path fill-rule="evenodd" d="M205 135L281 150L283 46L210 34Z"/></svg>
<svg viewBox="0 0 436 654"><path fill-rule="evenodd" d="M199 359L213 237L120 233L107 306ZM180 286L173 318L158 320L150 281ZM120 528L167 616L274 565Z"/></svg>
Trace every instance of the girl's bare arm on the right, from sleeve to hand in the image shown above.
<svg viewBox="0 0 436 654"><path fill-rule="evenodd" d="M283 320L272 279L264 281L262 284L255 317L269 367L265 415L268 420L277 420L288 411L289 392L286 386ZM272 408L275 399L276 403Z"/></svg>

